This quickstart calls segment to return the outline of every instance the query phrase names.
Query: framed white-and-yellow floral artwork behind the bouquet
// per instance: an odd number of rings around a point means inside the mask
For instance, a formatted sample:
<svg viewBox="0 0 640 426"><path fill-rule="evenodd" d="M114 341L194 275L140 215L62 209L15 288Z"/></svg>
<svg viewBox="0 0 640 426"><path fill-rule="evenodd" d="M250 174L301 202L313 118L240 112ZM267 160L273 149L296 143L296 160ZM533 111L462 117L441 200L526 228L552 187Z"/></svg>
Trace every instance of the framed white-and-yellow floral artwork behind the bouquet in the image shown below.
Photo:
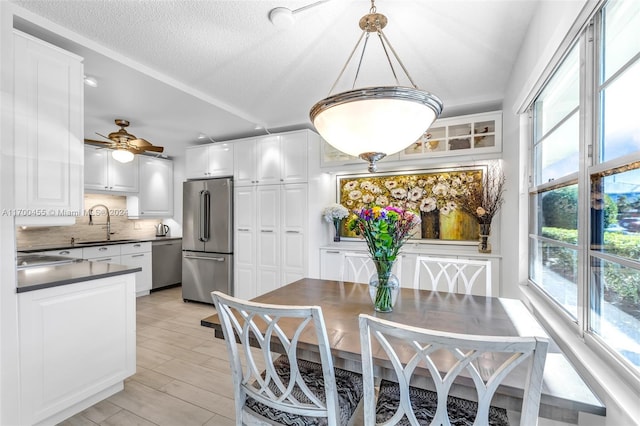
<svg viewBox="0 0 640 426"><path fill-rule="evenodd" d="M478 241L477 220L458 209L455 198L481 184L482 177L482 168L338 176L339 203L349 211L370 204L411 210L422 220L413 238ZM341 234L356 237L344 227Z"/></svg>

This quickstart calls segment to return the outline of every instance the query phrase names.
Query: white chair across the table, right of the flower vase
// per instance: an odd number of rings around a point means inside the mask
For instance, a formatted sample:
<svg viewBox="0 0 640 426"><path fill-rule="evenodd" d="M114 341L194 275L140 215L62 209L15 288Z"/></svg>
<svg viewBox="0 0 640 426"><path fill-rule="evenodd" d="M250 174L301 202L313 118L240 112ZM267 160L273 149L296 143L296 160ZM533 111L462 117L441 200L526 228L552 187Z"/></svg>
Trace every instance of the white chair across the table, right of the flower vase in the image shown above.
<svg viewBox="0 0 640 426"><path fill-rule="evenodd" d="M418 256L413 274L413 288L420 288L420 276L428 276L429 288L432 291L472 294L474 285L484 277L485 290L480 293L491 297L491 261L456 259L444 257ZM464 286L458 291L458 284Z"/></svg>

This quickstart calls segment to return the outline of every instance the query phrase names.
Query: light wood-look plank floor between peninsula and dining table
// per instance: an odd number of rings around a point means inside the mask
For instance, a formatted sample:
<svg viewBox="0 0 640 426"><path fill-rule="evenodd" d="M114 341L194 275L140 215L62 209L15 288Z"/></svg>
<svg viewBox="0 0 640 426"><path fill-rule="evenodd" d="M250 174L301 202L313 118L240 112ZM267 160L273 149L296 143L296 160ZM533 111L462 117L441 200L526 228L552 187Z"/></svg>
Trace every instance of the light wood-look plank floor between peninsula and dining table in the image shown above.
<svg viewBox="0 0 640 426"><path fill-rule="evenodd" d="M213 313L184 303L180 287L138 297L136 374L123 391L61 425L235 425L224 341L200 325Z"/></svg>

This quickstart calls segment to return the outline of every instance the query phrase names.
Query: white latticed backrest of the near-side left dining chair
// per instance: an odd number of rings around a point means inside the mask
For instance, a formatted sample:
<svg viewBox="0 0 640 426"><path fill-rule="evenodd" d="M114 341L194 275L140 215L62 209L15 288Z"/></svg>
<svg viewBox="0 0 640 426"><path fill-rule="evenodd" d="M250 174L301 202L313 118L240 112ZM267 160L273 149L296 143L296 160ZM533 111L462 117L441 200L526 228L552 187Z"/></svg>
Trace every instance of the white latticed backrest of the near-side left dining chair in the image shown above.
<svg viewBox="0 0 640 426"><path fill-rule="evenodd" d="M320 307L254 303L218 291L211 295L231 361L236 419L243 418L245 401L252 398L276 410L301 416L326 417L329 425L337 425L340 407L329 340ZM298 341L303 333L313 333L318 342L324 401L308 388L298 368ZM236 339L240 345L236 344ZM284 355L281 356L288 358L290 371L287 382L283 381L274 366L277 359L272 351L274 345L283 350ZM242 350L239 350L239 346ZM258 368L259 363L264 364L264 373Z"/></svg>

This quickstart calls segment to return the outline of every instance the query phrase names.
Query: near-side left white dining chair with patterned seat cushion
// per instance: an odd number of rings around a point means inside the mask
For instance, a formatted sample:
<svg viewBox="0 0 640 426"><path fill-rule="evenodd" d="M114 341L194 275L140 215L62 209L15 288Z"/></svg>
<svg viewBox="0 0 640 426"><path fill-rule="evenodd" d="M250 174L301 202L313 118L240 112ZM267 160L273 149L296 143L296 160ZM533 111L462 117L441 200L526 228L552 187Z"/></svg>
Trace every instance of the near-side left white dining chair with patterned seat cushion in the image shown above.
<svg viewBox="0 0 640 426"><path fill-rule="evenodd" d="M211 296L231 363L237 425L322 424L319 418L329 426L351 424L362 376L334 369L320 307L260 304L218 291ZM303 332L314 333L320 364L298 359ZM258 364L266 365L264 372Z"/></svg>

